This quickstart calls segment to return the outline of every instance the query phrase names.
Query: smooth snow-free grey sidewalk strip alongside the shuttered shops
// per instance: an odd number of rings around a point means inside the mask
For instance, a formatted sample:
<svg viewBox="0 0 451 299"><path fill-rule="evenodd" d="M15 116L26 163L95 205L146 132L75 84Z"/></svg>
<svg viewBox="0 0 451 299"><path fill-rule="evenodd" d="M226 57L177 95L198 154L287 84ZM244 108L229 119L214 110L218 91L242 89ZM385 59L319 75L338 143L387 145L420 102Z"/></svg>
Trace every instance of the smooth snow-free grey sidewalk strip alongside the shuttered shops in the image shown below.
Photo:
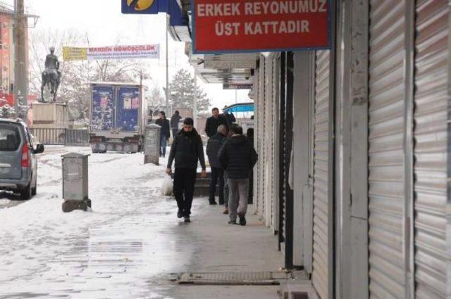
<svg viewBox="0 0 451 299"><path fill-rule="evenodd" d="M276 236L256 215L247 225L230 225L223 207L209 205L207 198L195 198L192 222L173 228L174 234L191 240L194 250L184 272L261 272L283 267ZM252 206L249 206L252 210ZM180 240L182 241L182 240ZM258 298L275 299L280 286L190 286L178 285L171 298Z"/></svg>

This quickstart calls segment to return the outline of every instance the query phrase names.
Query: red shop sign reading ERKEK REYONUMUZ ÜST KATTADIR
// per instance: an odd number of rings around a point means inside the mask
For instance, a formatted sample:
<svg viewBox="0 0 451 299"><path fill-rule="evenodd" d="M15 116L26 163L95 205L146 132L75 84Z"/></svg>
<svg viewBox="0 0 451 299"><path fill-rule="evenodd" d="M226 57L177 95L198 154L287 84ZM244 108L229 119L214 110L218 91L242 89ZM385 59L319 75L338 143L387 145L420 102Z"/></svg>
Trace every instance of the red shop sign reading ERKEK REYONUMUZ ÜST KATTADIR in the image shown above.
<svg viewBox="0 0 451 299"><path fill-rule="evenodd" d="M329 0L193 0L194 53L329 49Z"/></svg>

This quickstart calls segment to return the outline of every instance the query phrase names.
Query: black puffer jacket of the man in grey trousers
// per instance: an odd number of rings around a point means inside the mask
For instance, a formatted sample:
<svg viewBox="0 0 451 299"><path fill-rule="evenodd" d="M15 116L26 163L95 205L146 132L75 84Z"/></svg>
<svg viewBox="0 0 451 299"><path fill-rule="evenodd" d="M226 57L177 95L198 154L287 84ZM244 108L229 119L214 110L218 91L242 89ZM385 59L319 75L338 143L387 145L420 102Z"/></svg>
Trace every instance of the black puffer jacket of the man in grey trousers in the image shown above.
<svg viewBox="0 0 451 299"><path fill-rule="evenodd" d="M257 163L258 156L246 136L235 135L226 141L218 158L229 179L247 179L249 170Z"/></svg>

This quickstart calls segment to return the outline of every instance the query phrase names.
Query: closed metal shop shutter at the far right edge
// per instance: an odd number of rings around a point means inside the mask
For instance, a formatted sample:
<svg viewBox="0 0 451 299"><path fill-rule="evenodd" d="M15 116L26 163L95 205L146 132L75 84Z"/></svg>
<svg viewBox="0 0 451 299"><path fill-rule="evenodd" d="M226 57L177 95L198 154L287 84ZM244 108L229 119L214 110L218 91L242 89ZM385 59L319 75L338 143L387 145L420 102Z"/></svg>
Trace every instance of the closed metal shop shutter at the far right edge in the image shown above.
<svg viewBox="0 0 451 299"><path fill-rule="evenodd" d="M451 297L446 253L447 2L416 1L414 256L415 298L421 299Z"/></svg>

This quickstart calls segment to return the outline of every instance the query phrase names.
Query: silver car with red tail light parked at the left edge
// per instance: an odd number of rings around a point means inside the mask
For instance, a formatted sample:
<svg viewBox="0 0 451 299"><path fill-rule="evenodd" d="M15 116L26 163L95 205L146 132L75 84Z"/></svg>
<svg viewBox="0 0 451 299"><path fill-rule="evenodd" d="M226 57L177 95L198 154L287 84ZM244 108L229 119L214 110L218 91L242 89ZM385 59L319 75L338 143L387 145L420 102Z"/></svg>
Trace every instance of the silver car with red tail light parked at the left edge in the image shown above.
<svg viewBox="0 0 451 299"><path fill-rule="evenodd" d="M25 122L0 118L0 190L18 191L23 200L36 195L36 154L42 152L42 144L32 144Z"/></svg>

